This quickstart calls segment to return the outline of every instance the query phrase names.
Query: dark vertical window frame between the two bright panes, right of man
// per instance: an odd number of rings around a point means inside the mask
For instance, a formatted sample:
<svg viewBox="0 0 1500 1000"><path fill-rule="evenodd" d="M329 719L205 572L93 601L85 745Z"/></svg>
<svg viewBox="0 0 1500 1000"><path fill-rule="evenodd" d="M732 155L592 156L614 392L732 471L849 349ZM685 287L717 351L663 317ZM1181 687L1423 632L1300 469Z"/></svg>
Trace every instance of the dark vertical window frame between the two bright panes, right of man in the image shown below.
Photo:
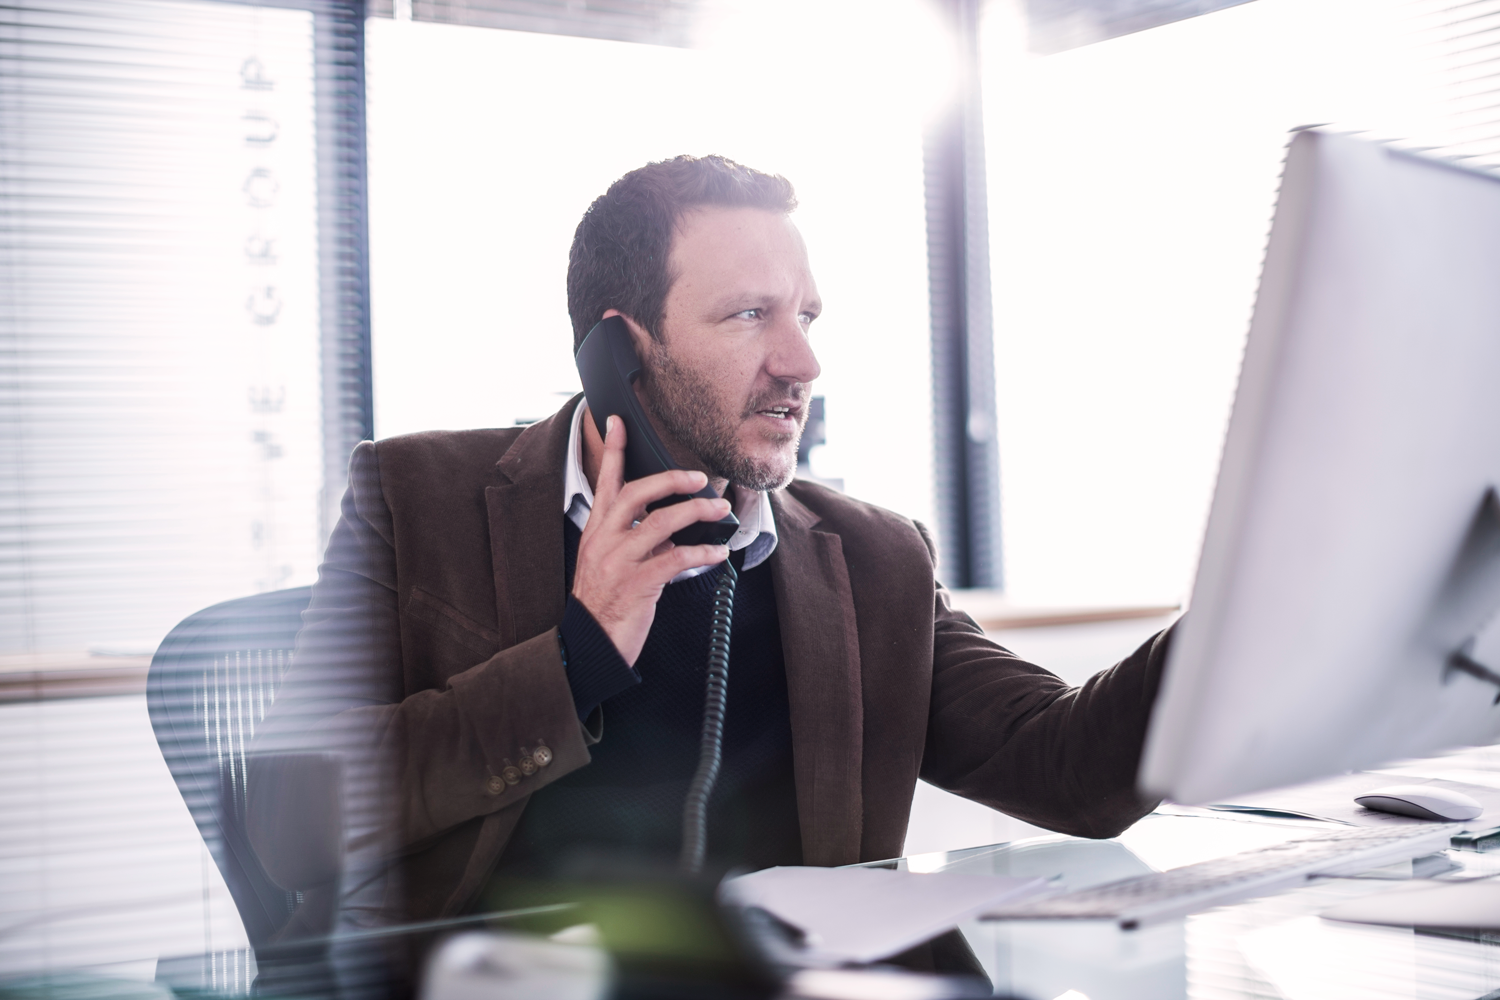
<svg viewBox="0 0 1500 1000"><path fill-rule="evenodd" d="M988 199L980 99L982 0L934 0L954 39L957 85L924 136L932 301L938 573L948 586L1005 586L996 439Z"/></svg>

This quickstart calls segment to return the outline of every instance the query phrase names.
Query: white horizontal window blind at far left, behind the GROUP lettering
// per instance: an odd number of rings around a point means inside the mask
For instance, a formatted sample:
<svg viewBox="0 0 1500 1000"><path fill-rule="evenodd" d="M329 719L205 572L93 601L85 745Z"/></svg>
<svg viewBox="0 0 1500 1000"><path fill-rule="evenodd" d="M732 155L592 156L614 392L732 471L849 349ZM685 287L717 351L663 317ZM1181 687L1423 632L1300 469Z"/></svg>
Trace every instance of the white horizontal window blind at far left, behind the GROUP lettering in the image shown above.
<svg viewBox="0 0 1500 1000"><path fill-rule="evenodd" d="M0 10L0 655L148 654L315 574L368 426L315 21Z"/></svg>

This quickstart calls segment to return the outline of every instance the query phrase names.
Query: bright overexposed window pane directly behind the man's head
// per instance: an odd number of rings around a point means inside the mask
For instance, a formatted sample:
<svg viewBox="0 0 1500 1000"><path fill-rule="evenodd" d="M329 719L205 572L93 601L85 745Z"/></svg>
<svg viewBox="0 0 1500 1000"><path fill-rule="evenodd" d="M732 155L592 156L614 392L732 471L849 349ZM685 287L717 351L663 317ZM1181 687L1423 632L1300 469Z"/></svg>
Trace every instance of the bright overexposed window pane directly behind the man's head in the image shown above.
<svg viewBox="0 0 1500 1000"><path fill-rule="evenodd" d="M378 435L556 409L578 391L584 210L648 160L722 153L796 186L825 303L819 472L930 520L921 126L940 42L921 0L729 4L694 49L372 19Z"/></svg>

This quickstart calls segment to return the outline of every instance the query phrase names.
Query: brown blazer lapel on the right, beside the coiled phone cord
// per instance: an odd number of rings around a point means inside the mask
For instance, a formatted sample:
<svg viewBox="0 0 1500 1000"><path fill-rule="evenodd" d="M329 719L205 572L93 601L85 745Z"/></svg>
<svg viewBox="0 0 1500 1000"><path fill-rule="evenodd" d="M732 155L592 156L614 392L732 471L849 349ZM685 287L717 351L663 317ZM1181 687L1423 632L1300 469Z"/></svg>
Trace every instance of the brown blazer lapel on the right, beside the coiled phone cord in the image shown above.
<svg viewBox="0 0 1500 1000"><path fill-rule="evenodd" d="M777 490L771 556L792 703L792 768L804 865L860 861L864 709L854 592L838 535Z"/></svg>

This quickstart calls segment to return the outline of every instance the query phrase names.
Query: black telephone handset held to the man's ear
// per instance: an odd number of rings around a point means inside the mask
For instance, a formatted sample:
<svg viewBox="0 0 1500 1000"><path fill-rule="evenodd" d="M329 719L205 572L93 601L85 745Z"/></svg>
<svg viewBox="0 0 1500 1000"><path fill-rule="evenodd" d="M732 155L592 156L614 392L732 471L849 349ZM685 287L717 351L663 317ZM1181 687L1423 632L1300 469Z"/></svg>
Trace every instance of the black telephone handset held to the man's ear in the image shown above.
<svg viewBox="0 0 1500 1000"><path fill-rule="evenodd" d="M603 438L610 414L626 421L626 481L639 480L644 475L656 475L668 469L680 469L657 436L645 411L640 409L640 399L636 396L634 381L640 376L640 358L636 355L636 345L630 339L630 328L620 316L600 319L584 337L578 348L579 378L584 379L584 396L588 397L588 409L594 415L594 426ZM704 486L693 496L717 499L718 493L712 486ZM690 499L682 493L674 493L646 507L656 510ZM722 520L699 520L675 532L672 541L680 546L724 544L740 529L740 520L734 514L724 514Z"/></svg>

